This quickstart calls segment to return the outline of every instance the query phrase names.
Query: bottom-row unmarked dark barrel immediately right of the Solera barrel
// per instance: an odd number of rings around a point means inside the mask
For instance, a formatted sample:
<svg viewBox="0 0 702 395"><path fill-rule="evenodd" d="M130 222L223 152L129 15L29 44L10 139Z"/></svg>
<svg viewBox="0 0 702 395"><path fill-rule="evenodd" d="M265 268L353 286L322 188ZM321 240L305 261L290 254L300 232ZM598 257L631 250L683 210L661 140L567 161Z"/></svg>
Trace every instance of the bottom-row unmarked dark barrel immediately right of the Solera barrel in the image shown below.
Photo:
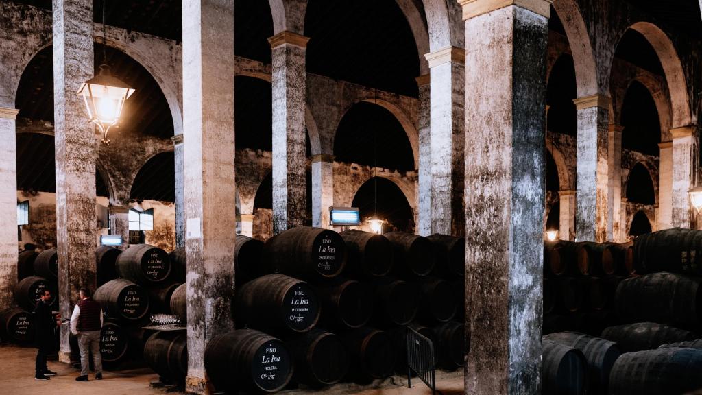
<svg viewBox="0 0 702 395"><path fill-rule="evenodd" d="M285 342L295 360L295 380L310 387L339 382L348 371L348 356L333 333L312 329Z"/></svg>

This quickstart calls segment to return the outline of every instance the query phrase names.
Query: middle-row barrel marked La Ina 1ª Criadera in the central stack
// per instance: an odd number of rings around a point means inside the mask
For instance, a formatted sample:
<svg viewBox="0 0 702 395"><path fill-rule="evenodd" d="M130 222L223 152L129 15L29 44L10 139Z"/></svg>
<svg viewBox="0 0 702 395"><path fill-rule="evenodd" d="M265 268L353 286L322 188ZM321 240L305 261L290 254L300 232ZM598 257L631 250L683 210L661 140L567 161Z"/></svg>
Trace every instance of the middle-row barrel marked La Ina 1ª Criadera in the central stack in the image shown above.
<svg viewBox="0 0 702 395"><path fill-rule="evenodd" d="M319 319L319 301L310 285L282 274L244 284L234 300L237 325L265 332L307 332Z"/></svg>

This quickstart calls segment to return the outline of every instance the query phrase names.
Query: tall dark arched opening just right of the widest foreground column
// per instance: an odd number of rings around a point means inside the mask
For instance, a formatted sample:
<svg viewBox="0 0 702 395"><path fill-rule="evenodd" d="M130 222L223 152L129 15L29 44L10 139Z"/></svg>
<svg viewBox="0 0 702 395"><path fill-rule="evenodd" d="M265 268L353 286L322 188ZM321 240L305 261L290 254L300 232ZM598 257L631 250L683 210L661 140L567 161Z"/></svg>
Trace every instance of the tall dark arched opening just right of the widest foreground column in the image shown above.
<svg viewBox="0 0 702 395"><path fill-rule="evenodd" d="M578 112L573 100L577 97L573 57L564 54L553 65L546 89L548 131L578 135Z"/></svg>

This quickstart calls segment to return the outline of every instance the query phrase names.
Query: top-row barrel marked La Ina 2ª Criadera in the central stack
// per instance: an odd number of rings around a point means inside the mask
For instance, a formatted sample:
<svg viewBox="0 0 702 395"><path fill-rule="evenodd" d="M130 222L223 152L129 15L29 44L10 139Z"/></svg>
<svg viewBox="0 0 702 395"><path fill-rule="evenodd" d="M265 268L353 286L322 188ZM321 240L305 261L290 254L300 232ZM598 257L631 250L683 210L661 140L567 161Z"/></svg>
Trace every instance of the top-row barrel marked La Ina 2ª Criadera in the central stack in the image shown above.
<svg viewBox="0 0 702 395"><path fill-rule="evenodd" d="M343 271L346 247L334 231L298 226L268 239L262 261L268 273L277 270L305 280L324 280Z"/></svg>

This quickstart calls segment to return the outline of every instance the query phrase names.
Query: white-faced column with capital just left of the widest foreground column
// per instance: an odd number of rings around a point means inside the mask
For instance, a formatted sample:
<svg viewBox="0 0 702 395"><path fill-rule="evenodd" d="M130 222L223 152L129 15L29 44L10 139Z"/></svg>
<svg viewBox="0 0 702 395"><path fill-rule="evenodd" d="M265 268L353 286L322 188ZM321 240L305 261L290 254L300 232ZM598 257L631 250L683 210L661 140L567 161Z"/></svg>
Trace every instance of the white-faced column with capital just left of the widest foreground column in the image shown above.
<svg viewBox="0 0 702 395"><path fill-rule="evenodd" d="M463 48L425 55L431 70L431 233L465 235L463 213Z"/></svg>

